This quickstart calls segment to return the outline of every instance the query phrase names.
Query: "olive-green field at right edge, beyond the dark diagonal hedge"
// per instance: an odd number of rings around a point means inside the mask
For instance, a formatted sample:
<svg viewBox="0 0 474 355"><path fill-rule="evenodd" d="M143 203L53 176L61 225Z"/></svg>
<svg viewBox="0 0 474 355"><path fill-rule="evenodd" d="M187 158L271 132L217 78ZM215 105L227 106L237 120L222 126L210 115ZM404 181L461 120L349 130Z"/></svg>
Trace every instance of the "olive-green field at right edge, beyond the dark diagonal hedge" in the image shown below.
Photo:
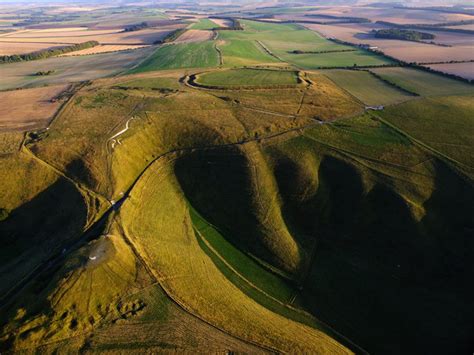
<svg viewBox="0 0 474 355"><path fill-rule="evenodd" d="M441 75L410 68L371 69L394 84L422 96L474 93L474 86Z"/></svg>

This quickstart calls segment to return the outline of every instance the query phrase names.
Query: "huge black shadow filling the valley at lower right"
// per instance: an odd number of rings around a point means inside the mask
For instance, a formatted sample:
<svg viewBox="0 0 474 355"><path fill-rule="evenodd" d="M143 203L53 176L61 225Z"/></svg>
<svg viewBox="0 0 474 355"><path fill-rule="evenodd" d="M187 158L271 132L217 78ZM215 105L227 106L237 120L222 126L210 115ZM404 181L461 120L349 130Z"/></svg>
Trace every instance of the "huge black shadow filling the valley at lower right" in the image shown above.
<svg viewBox="0 0 474 355"><path fill-rule="evenodd" d="M435 189L417 222L391 188L378 183L363 195L347 165L326 158L319 169L314 206L322 205L311 209L319 241L304 306L371 353L466 353L472 186L435 163Z"/></svg>

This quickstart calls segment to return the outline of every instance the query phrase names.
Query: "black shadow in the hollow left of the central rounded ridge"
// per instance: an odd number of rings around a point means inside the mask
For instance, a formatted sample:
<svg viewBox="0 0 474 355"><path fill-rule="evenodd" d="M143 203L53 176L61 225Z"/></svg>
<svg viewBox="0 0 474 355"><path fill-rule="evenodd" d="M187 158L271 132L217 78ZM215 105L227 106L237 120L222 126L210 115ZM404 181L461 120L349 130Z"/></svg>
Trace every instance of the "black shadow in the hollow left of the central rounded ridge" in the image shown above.
<svg viewBox="0 0 474 355"><path fill-rule="evenodd" d="M258 233L247 158L237 148L188 154L175 174L191 205L238 248L272 263Z"/></svg>

